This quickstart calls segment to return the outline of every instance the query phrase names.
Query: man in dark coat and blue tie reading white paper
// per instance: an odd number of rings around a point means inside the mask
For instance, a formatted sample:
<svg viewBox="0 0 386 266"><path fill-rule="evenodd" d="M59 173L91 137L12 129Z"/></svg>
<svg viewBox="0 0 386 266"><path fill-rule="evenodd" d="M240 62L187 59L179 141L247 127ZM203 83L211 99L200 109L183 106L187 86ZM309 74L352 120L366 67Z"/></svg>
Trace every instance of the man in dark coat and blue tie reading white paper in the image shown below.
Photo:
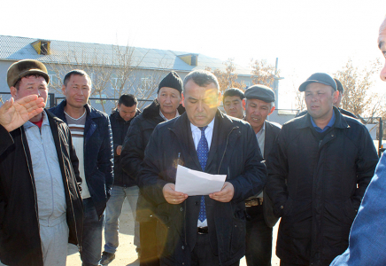
<svg viewBox="0 0 386 266"><path fill-rule="evenodd" d="M251 126L218 110L220 88L208 71L183 82L180 117L158 124L146 147L139 186L156 206L161 265L239 265L245 253L244 200L260 192L266 168ZM175 191L177 165L227 175L220 192Z"/></svg>

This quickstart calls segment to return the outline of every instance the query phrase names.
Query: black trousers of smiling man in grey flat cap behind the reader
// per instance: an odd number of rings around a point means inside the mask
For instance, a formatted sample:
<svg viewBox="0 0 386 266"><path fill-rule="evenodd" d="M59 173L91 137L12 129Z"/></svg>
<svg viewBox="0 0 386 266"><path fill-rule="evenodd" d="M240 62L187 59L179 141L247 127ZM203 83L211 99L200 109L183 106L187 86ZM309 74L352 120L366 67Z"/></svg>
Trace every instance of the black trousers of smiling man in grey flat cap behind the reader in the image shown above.
<svg viewBox="0 0 386 266"><path fill-rule="evenodd" d="M263 206L246 207L245 259L248 266L271 266L272 228L266 226Z"/></svg>

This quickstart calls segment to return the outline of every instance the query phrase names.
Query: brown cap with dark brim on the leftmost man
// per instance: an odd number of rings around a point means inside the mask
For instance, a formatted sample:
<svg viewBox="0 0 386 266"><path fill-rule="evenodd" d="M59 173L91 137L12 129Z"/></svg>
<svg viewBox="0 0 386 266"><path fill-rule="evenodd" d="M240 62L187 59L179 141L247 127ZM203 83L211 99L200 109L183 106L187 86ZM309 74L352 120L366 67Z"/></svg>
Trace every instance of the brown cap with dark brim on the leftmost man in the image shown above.
<svg viewBox="0 0 386 266"><path fill-rule="evenodd" d="M30 74L42 75L47 84L50 82L50 77L48 75L47 68L42 64L42 62L33 59L25 59L13 63L10 68L8 68L8 86L11 88L16 84L16 82L19 81L19 79Z"/></svg>

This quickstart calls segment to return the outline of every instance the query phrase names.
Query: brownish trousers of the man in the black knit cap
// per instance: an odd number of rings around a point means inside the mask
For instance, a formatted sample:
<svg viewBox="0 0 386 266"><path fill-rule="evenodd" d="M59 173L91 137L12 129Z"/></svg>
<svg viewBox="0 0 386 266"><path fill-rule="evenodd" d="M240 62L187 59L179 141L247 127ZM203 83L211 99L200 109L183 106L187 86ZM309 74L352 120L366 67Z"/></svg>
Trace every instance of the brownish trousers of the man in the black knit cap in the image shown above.
<svg viewBox="0 0 386 266"><path fill-rule="evenodd" d="M139 223L141 243L140 266L159 266L157 249L157 219Z"/></svg>

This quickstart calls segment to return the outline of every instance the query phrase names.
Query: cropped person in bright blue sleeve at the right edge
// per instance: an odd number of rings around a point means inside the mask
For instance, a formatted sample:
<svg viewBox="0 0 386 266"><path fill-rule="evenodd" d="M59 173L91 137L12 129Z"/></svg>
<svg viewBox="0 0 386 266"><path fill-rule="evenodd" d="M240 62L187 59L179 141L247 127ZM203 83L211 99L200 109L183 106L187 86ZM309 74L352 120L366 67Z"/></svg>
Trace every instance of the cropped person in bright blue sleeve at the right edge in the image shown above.
<svg viewBox="0 0 386 266"><path fill-rule="evenodd" d="M386 19L379 29L378 46L386 58ZM386 82L386 63L381 71ZM386 157L383 153L351 227L349 248L331 265L386 265Z"/></svg>

